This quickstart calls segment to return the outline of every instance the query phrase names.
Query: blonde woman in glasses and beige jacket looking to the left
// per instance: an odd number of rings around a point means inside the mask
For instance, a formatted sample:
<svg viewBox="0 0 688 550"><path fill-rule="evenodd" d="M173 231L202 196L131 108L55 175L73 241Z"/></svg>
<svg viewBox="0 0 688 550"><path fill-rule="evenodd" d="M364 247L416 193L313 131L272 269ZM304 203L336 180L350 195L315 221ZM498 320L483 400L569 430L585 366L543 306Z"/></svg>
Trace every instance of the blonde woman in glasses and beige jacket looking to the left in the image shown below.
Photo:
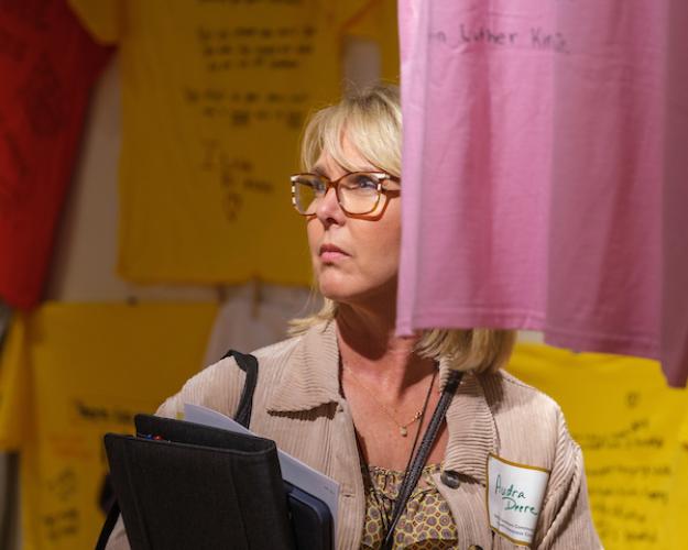
<svg viewBox="0 0 688 550"><path fill-rule="evenodd" d="M558 406L499 370L514 333L394 333L403 189L396 88L316 113L303 164L305 173L292 176L293 202L325 306L294 322L290 340L254 352L251 429L339 482L337 548L380 548L389 530L394 548L517 548L513 540L528 538L533 548L600 548L580 449ZM450 391L457 371L465 374ZM226 359L159 414L175 417L196 403L232 416L242 386L242 371ZM439 430L394 520L398 486L443 391L448 409L437 413ZM533 481L528 472L544 473ZM528 494L536 490L540 497ZM488 502L491 514L499 502L532 516L534 531L517 532L506 515L489 518ZM114 539L124 541L121 526L109 548Z"/></svg>

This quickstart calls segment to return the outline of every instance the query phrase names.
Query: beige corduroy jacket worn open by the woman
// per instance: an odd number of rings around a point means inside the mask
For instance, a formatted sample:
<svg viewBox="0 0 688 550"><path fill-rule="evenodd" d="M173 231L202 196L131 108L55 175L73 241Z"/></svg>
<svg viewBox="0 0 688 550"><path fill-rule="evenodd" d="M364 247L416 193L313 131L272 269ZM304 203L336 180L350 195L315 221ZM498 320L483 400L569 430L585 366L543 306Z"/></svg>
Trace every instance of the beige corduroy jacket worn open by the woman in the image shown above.
<svg viewBox="0 0 688 550"><path fill-rule="evenodd" d="M353 421L339 388L335 322L316 326L254 355L260 367L251 429L339 482L337 548L358 549L364 492ZM449 369L440 362L441 385ZM177 417L185 403L193 403L233 416L243 377L234 360L225 359L189 380L157 414ZM590 516L580 448L553 399L502 371L467 373L447 413L447 428L443 472L435 482L456 521L458 548L523 548L490 529L485 505L489 453L552 472L532 548L601 548ZM108 550L127 548L120 520Z"/></svg>

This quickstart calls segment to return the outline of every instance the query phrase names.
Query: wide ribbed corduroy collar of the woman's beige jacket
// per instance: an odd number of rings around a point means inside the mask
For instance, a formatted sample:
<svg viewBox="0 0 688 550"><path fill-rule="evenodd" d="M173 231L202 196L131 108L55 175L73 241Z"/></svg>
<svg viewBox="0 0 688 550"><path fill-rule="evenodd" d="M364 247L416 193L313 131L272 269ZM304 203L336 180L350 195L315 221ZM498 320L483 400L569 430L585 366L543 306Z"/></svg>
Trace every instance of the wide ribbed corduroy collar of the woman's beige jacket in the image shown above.
<svg viewBox="0 0 688 550"><path fill-rule="evenodd" d="M451 366L440 361L444 388ZM485 397L482 375L467 372L447 410L449 440L444 470L476 479L483 485L488 454L496 451L496 428ZM279 388L267 400L267 411L287 414L339 403L339 345L335 321L310 328L294 348Z"/></svg>

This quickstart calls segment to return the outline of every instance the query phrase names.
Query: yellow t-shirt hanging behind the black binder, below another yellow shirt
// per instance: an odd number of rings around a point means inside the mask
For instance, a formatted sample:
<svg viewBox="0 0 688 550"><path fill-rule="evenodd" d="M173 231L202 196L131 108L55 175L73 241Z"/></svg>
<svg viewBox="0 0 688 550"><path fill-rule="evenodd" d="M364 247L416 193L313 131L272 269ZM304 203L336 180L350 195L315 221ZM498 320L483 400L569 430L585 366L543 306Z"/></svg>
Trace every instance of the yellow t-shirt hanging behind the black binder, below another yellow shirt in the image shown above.
<svg viewBox="0 0 688 550"><path fill-rule="evenodd" d="M22 548L92 548L106 432L133 430L200 370L214 304L55 304L18 316L0 362L0 447L20 450Z"/></svg>

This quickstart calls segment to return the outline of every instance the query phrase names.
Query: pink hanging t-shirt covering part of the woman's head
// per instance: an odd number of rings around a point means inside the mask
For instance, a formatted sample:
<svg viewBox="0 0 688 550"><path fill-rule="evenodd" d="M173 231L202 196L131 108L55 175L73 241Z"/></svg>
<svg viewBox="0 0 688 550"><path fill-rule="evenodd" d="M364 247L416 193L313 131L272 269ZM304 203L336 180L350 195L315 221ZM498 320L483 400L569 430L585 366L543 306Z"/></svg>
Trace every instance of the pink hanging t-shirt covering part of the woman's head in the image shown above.
<svg viewBox="0 0 688 550"><path fill-rule="evenodd" d="M400 1L400 332L543 330L686 382L688 294L662 302L663 276L688 277L688 217L662 228L687 195L684 178L663 199L665 140L688 131L688 94L666 109L679 2Z"/></svg>

